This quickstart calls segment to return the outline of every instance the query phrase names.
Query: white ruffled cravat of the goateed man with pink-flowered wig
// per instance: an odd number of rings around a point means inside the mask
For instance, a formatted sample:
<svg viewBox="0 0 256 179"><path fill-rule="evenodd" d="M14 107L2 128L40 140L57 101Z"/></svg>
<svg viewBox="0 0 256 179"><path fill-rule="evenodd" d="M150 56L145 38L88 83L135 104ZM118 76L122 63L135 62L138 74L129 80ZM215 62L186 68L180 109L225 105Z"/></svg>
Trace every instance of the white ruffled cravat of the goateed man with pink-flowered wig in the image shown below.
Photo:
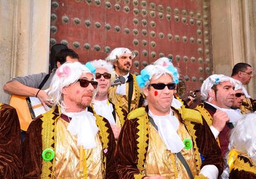
<svg viewBox="0 0 256 179"><path fill-rule="evenodd" d="M93 113L87 111L87 108L79 113L66 113L63 110L61 112L72 118L67 129L72 136L77 136L77 146L82 145L84 149L97 147L95 137L99 129Z"/></svg>

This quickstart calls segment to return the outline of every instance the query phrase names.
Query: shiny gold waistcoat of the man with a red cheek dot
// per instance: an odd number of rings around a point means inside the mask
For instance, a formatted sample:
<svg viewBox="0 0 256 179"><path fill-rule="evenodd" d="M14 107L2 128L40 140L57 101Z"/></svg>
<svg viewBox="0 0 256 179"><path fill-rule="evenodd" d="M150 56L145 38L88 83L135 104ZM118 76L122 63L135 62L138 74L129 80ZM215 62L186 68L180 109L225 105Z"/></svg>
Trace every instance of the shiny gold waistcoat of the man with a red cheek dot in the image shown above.
<svg viewBox="0 0 256 179"><path fill-rule="evenodd" d="M192 140L184 124L180 123L180 127L177 132L181 140L184 140L185 138ZM189 175L182 162L180 162L176 156L172 157L173 154L170 152L170 150L167 150L166 145L163 143L159 133L152 124L149 124L148 139L148 152L146 158L147 176L161 175L168 179L175 178L175 173L177 172L176 175L178 178L189 179ZM184 159L188 162L192 174L195 176L196 162L193 148L183 149L181 153ZM175 159L175 161L173 162L172 159ZM175 164L175 166L173 166L173 164Z"/></svg>

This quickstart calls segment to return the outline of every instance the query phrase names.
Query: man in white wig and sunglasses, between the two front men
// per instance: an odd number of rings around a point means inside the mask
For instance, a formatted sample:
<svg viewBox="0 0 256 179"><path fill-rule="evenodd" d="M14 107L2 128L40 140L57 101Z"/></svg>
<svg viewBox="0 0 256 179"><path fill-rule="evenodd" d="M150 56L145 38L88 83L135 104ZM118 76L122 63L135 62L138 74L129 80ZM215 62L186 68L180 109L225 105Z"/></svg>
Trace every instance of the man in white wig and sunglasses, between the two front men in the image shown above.
<svg viewBox="0 0 256 179"><path fill-rule="evenodd" d="M127 112L108 100L108 90L111 85L110 79L113 73L112 65L102 60L88 63L92 64L93 68L95 68L95 79L98 82L97 94L92 100L93 110L97 115L108 119L117 140L121 127L124 125L125 118L127 117Z"/></svg>

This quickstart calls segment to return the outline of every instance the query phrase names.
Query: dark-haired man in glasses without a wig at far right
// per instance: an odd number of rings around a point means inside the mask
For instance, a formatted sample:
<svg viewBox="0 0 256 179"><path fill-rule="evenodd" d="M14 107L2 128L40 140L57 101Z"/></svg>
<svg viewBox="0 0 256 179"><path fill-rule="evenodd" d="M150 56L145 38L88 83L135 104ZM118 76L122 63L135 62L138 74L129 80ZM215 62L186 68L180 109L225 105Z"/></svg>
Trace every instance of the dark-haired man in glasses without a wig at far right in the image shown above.
<svg viewBox="0 0 256 179"><path fill-rule="evenodd" d="M232 78L239 80L243 85L248 85L253 77L253 70L250 64L237 63L232 69ZM256 110L256 100L248 94L247 90L243 86L243 93L245 95L241 111L243 113L251 113Z"/></svg>

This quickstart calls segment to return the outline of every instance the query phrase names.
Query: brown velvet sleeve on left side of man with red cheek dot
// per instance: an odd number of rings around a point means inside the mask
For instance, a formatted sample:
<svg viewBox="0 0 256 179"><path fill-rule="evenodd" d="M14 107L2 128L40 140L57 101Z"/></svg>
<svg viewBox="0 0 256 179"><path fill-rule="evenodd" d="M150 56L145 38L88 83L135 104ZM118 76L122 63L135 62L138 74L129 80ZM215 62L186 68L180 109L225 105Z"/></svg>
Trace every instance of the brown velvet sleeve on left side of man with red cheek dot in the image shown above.
<svg viewBox="0 0 256 179"><path fill-rule="evenodd" d="M126 120L118 138L115 155L117 173L120 178L133 179L134 175L137 175L138 178L143 177L137 168L136 131L138 131L136 122Z"/></svg>

